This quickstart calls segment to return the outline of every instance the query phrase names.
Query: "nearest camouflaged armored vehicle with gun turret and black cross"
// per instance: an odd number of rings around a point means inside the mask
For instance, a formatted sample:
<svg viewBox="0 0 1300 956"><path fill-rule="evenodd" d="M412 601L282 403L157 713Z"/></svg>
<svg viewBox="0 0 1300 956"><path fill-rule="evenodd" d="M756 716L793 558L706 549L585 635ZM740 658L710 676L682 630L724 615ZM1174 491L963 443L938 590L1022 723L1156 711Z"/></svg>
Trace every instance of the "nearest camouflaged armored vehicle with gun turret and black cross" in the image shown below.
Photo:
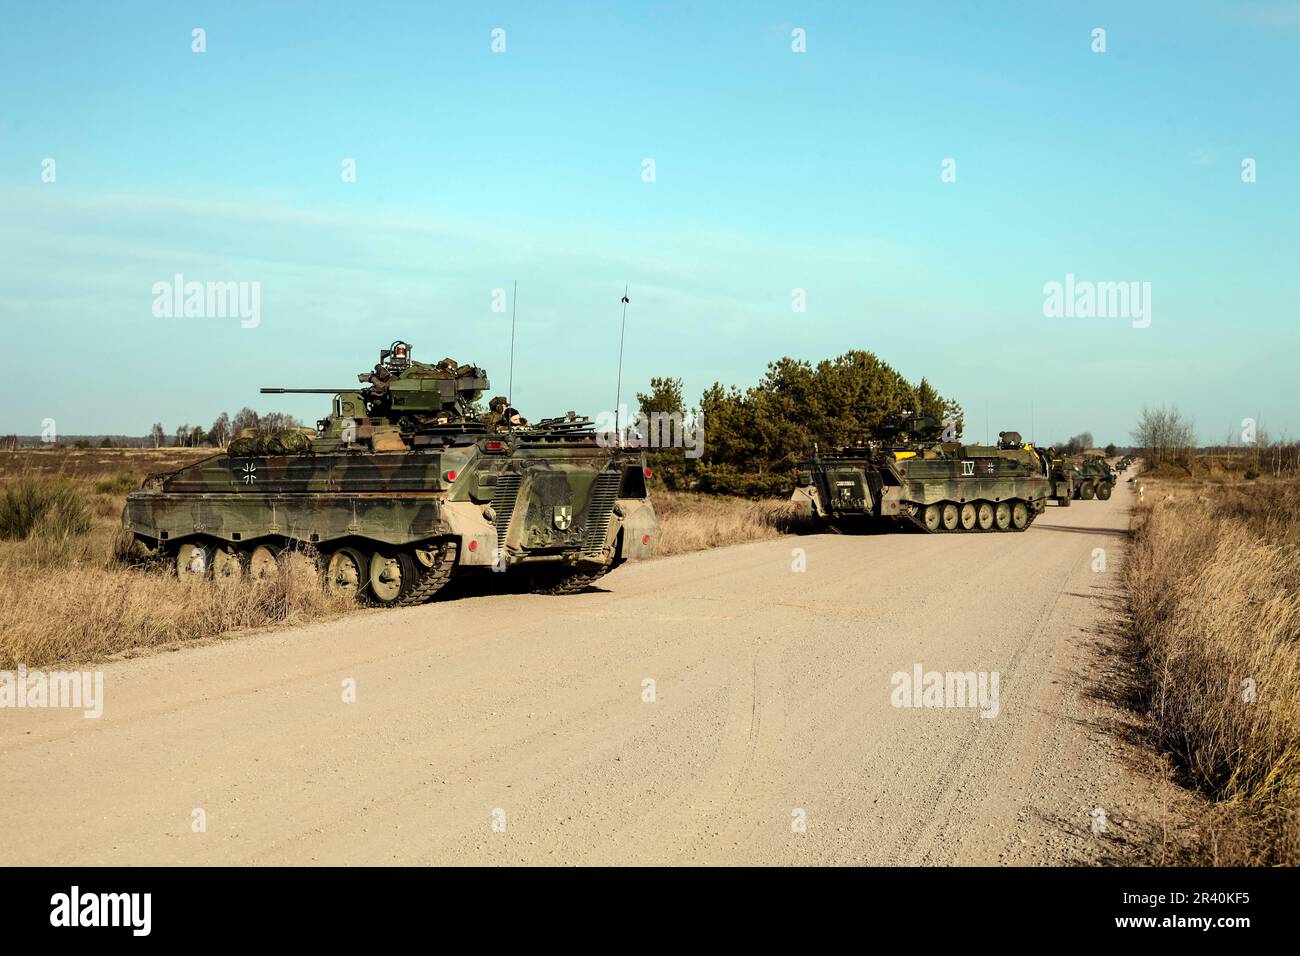
<svg viewBox="0 0 1300 956"><path fill-rule="evenodd" d="M315 431L243 436L144 481L122 524L179 575L265 575L286 549L318 555L332 592L381 605L433 597L463 570L526 574L566 593L646 558L655 515L644 453L569 412L485 424L486 373L380 352L361 388L333 394ZM510 410L514 412L514 410Z"/></svg>

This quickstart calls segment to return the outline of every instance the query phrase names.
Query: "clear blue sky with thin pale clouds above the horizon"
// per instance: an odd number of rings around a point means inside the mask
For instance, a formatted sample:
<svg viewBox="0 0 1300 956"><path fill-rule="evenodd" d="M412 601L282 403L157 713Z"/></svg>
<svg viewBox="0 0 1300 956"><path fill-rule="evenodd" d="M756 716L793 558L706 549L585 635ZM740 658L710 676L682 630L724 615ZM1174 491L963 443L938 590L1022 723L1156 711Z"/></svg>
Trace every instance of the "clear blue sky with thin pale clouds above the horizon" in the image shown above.
<svg viewBox="0 0 1300 956"><path fill-rule="evenodd" d="M504 392L517 280L532 416L612 405L628 282L625 399L868 349L976 438L1300 437L1300 1L26 4L0 92L0 433L315 420L257 386L399 337ZM156 317L176 273L260 325ZM1044 316L1067 273L1149 328Z"/></svg>

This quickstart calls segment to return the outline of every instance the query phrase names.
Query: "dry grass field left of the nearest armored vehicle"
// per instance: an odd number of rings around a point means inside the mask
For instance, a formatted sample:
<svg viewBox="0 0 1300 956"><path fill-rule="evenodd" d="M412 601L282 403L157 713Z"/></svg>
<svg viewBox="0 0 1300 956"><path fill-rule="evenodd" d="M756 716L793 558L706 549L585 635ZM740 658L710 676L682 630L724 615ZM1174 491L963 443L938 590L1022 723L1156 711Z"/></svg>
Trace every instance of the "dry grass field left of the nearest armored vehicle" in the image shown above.
<svg viewBox="0 0 1300 956"><path fill-rule="evenodd" d="M107 480L91 468L66 477L57 467L0 477L0 670L103 659L350 606L324 592L304 554L286 555L263 581L177 580L169 567L142 561L121 529L118 489L174 464L151 454L120 472L121 454L114 458L104 463Z"/></svg>

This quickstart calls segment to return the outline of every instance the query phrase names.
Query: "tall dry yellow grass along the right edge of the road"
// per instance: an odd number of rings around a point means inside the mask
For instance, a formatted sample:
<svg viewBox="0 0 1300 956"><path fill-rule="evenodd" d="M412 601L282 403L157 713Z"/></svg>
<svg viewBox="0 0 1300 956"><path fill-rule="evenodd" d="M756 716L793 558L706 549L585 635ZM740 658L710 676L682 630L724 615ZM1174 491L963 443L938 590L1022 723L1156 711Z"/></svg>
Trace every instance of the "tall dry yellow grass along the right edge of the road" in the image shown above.
<svg viewBox="0 0 1300 956"><path fill-rule="evenodd" d="M1218 801L1217 864L1300 862L1300 483L1141 479L1126 567L1147 705Z"/></svg>

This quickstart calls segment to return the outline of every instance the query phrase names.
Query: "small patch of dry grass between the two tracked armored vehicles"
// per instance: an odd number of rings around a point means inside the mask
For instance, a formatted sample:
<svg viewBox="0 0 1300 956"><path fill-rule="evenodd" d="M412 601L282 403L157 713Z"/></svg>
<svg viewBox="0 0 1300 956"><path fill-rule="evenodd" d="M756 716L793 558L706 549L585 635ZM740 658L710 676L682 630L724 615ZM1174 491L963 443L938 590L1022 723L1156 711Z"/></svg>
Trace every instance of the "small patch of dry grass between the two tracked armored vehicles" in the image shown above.
<svg viewBox="0 0 1300 956"><path fill-rule="evenodd" d="M764 541L802 528L793 506L785 501L685 492L656 492L653 501L659 518L655 557Z"/></svg>

